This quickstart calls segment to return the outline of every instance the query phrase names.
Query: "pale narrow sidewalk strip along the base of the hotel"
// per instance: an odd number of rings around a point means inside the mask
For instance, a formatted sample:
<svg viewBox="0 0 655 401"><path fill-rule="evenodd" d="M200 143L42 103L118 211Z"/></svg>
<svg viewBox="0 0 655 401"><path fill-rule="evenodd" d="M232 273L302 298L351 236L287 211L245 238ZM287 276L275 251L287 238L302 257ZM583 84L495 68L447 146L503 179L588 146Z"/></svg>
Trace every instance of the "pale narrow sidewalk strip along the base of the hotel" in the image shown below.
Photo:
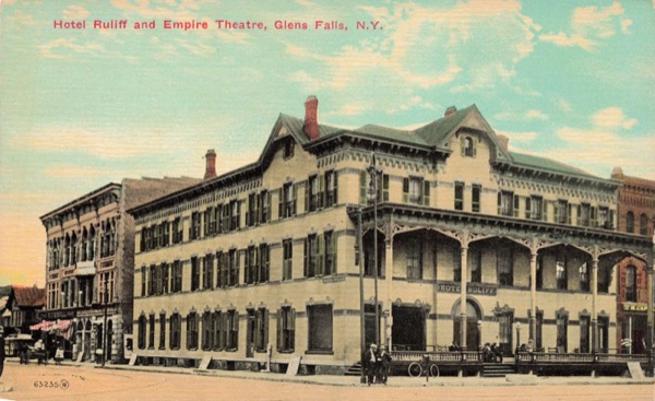
<svg viewBox="0 0 655 401"><path fill-rule="evenodd" d="M5 362L19 363L17 358L7 358ZM32 363L32 362L31 362ZM36 363L36 362L35 362ZM221 370L195 368L166 367L166 366L129 366L106 364L102 367L91 362L78 363L74 361L62 362L64 366L76 366L82 368L95 368L107 370L138 370L160 374L178 375L199 375L225 378L239 378L252 380L287 381L309 385L323 386L365 386L360 384L359 376L335 376L335 375L312 375L312 376L287 376L278 373L266 371L247 371L247 370ZM53 362L48 362L48 366L56 367ZM407 376L391 376L388 387L425 387L425 386L451 386L451 387L485 387L485 386L567 386L567 385L654 385L655 378L633 379L629 377L590 377L590 376L531 376L531 375L509 375L507 377L438 377L426 381L425 377L415 378ZM378 385L373 385L379 387Z"/></svg>

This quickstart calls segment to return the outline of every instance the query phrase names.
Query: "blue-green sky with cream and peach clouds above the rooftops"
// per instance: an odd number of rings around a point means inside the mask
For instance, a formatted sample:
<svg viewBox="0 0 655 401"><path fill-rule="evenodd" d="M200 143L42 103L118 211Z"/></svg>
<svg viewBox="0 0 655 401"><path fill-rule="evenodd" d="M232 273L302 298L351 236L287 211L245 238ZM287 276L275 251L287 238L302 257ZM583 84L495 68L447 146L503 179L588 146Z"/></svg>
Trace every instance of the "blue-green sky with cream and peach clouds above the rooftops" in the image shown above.
<svg viewBox="0 0 655 401"><path fill-rule="evenodd" d="M309 95L344 128L475 104L510 151L655 179L654 0L0 1L0 285L44 285L39 216L250 163Z"/></svg>

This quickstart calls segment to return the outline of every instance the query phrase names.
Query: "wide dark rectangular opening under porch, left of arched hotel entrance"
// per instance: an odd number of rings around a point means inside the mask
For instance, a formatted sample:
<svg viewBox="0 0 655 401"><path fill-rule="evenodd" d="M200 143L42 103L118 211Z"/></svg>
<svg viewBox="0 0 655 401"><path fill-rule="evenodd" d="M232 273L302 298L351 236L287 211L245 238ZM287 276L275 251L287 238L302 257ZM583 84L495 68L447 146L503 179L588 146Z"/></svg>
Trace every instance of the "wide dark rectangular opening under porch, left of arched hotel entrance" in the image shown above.
<svg viewBox="0 0 655 401"><path fill-rule="evenodd" d="M420 306L393 306L392 341L398 351L426 351L426 310Z"/></svg>

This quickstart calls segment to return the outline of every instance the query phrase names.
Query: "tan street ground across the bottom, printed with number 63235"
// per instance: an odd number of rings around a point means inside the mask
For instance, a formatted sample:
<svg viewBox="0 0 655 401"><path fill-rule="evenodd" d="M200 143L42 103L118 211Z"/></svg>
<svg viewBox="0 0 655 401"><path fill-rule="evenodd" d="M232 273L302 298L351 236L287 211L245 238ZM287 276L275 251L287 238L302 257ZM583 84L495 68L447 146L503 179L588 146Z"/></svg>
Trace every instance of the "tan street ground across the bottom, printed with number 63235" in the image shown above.
<svg viewBox="0 0 655 401"><path fill-rule="evenodd" d="M156 370L164 370L156 371ZM183 371L183 373L182 373ZM392 377L386 387L366 387L358 378L93 365L5 364L0 393L9 400L654 400L652 379L537 378L521 386L505 379ZM536 385L535 385L536 384Z"/></svg>

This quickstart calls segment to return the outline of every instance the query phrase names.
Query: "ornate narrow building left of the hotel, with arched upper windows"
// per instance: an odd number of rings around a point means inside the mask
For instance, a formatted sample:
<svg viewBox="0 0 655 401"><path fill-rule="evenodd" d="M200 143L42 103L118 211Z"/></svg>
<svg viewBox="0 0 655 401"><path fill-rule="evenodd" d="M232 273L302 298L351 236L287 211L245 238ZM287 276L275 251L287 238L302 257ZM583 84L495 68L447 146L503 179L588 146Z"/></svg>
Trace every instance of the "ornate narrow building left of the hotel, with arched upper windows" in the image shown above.
<svg viewBox="0 0 655 401"><path fill-rule="evenodd" d="M44 321L68 323L66 354L119 362L132 330L134 223L126 209L198 182L191 178L123 179L40 217L46 228ZM105 346L106 345L106 346Z"/></svg>

